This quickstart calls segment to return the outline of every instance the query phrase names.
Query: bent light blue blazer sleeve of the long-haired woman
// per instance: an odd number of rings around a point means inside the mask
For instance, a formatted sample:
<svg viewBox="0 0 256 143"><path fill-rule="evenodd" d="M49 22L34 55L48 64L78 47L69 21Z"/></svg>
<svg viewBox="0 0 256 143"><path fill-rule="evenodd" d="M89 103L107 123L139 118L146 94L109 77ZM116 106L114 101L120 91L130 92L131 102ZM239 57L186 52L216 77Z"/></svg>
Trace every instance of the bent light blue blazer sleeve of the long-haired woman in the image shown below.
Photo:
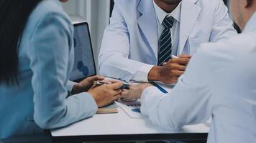
<svg viewBox="0 0 256 143"><path fill-rule="evenodd" d="M64 17L62 14L42 17L35 34L27 41L29 66L33 73L34 119L42 129L63 127L91 117L97 109L89 94L68 97L68 90L71 91L75 84L68 82L73 31L68 17Z"/></svg>

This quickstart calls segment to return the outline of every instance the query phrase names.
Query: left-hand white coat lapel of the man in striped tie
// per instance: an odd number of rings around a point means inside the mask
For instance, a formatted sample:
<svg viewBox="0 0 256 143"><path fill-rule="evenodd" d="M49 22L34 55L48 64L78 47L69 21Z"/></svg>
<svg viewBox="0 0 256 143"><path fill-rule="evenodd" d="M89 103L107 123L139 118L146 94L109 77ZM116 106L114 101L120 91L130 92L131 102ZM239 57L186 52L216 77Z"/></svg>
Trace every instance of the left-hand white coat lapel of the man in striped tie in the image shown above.
<svg viewBox="0 0 256 143"><path fill-rule="evenodd" d="M150 44L150 48L154 51L155 58L158 55L158 36L157 36L157 19L155 8L152 0L141 0L138 6L141 16L138 18L138 24L143 34Z"/></svg>

